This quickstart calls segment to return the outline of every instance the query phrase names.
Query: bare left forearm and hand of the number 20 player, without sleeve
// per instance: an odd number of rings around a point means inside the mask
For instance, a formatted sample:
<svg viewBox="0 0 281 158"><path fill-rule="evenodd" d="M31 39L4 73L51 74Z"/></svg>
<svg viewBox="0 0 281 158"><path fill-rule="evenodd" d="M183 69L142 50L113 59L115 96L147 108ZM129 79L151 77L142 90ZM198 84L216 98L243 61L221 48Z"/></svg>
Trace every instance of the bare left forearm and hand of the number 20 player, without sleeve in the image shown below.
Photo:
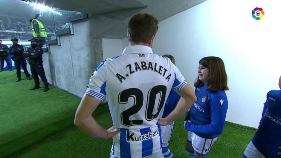
<svg viewBox="0 0 281 158"><path fill-rule="evenodd" d="M113 127L109 128L108 130L105 130L100 127L100 125L98 125L96 120L92 117L92 113L100 104L100 102L100 100L95 99L94 97L89 96L88 94L85 94L82 97L81 102L75 113L74 124L90 136L105 139L111 138L120 130L114 129Z"/></svg>

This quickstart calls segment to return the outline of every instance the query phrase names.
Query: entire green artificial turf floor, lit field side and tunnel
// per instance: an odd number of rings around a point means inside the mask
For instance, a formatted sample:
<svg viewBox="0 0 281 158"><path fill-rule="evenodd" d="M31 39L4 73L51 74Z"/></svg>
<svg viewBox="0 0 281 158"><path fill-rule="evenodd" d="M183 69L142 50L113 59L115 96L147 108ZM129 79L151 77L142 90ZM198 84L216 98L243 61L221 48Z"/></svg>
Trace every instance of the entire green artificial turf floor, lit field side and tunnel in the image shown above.
<svg viewBox="0 0 281 158"><path fill-rule="evenodd" d="M0 157L109 157L112 139L96 139L73 124L80 99L51 87L30 91L33 80L15 82L15 71L0 73ZM112 126L107 105L94 117L104 128ZM169 149L175 158L189 158L185 151L184 116L175 122ZM227 122L208 158L241 158L255 129Z"/></svg>

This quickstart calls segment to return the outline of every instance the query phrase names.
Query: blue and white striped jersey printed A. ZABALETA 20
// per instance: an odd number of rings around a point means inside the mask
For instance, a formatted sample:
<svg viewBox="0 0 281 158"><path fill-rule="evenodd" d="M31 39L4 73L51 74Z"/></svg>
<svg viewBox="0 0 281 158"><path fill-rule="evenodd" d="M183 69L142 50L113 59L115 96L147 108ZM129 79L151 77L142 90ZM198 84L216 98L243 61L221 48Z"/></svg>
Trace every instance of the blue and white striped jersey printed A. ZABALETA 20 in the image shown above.
<svg viewBox="0 0 281 158"><path fill-rule="evenodd" d="M164 104L173 88L187 84L178 68L167 58L143 45L126 47L122 55L103 61L91 75L86 94L108 101L115 128L114 155L140 158L161 149Z"/></svg>

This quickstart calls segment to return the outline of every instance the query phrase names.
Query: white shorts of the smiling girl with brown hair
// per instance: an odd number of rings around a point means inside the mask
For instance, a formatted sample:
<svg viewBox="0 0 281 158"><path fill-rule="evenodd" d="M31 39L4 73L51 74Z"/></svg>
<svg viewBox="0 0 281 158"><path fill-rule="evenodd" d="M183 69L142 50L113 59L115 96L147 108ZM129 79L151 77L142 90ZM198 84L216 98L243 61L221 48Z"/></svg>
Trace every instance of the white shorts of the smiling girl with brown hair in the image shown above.
<svg viewBox="0 0 281 158"><path fill-rule="evenodd" d="M213 139L201 138L190 131L187 134L187 141L192 144L194 151L202 156L206 155L210 151L217 139L218 137Z"/></svg>

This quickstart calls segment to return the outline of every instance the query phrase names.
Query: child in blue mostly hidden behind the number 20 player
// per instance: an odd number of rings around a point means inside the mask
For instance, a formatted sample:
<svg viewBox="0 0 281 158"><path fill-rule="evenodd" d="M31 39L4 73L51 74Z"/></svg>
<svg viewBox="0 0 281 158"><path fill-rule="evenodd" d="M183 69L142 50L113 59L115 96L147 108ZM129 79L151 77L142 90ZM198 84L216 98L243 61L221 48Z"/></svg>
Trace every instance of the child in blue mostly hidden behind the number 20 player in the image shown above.
<svg viewBox="0 0 281 158"><path fill-rule="evenodd" d="M163 55L163 57L169 58L172 61L172 63L175 64L175 58L172 55L165 54L165 55ZM178 95L178 93L176 93L175 90L171 90L171 92L169 93L168 99L165 103L165 106L164 106L164 112L163 112L162 118L167 117L169 115L169 113L171 113L175 109L180 98L181 98L181 96ZM162 154L165 158L173 158L173 154L169 150L168 145L169 145L169 141L170 141L170 138L172 135L174 123L175 123L175 121L172 121L171 123L169 123L166 126L161 126Z"/></svg>

